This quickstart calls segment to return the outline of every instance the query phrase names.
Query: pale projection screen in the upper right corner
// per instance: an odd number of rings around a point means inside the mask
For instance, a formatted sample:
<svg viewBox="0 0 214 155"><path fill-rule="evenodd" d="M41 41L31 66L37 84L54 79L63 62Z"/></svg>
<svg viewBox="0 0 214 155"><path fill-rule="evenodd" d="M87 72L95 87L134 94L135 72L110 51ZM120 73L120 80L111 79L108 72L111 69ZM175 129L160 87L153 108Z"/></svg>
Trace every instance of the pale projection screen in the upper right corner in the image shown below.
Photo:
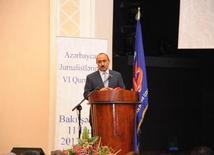
<svg viewBox="0 0 214 155"><path fill-rule="evenodd" d="M214 0L180 0L178 48L214 48Z"/></svg>

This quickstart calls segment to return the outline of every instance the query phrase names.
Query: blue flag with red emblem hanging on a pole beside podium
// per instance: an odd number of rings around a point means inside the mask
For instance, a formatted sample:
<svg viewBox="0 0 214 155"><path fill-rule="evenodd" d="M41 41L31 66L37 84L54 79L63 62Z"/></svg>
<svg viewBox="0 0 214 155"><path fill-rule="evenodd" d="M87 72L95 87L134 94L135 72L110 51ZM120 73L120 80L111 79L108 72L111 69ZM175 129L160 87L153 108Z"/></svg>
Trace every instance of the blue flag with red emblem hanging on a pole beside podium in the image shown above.
<svg viewBox="0 0 214 155"><path fill-rule="evenodd" d="M133 89L139 92L140 104L137 106L136 122L135 122L135 133L134 133L134 151L138 152L139 140L138 133L140 126L143 122L145 112L148 108L148 87L146 77L146 65L143 49L143 39L141 32L140 23L140 11L138 9L138 19L136 25L135 34L135 53L134 53L134 64L133 64Z"/></svg>

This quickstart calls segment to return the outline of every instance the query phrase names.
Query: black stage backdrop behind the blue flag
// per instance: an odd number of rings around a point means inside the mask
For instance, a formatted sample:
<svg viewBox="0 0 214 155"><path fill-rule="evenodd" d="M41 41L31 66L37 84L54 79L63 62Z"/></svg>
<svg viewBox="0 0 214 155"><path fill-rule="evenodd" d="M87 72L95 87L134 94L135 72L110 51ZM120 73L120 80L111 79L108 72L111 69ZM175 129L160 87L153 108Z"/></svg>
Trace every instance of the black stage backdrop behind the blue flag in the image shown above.
<svg viewBox="0 0 214 155"><path fill-rule="evenodd" d="M135 14L141 25L149 108L141 150L214 149L214 49L178 49L179 0L114 0L113 69L132 88Z"/></svg>

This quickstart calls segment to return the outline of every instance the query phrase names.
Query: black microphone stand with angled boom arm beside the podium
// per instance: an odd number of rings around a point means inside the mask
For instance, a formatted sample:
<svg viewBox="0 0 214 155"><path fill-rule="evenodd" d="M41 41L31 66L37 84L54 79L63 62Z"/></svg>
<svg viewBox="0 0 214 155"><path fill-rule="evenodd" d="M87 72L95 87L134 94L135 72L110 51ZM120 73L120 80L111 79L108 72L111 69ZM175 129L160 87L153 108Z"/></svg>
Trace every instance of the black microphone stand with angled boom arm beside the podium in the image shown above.
<svg viewBox="0 0 214 155"><path fill-rule="evenodd" d="M109 74L109 77L103 81L103 84L105 84L110 78L112 77L111 74ZM96 90L99 90L103 87L103 85L98 85L94 90L92 90L86 98L89 98ZM82 131L82 128L81 128L81 110L82 110L82 102L84 102L86 100L86 98L83 98L73 109L72 111L74 111L75 109L78 110L78 125L79 125L79 133L78 133L78 137L80 138L81 136L81 131Z"/></svg>

